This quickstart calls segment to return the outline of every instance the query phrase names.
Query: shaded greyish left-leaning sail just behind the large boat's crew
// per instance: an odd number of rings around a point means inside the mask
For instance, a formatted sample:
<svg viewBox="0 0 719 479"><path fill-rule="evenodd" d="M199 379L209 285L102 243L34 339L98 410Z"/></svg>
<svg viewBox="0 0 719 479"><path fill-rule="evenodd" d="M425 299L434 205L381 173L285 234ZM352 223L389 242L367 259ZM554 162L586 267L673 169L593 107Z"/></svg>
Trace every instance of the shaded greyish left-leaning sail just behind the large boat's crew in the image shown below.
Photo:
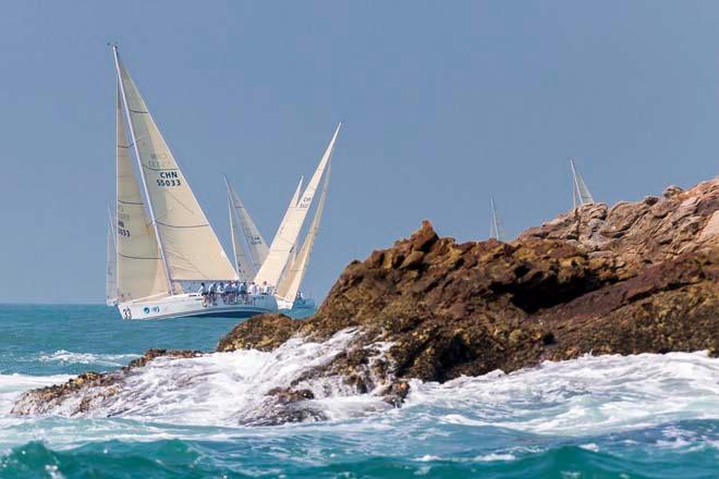
<svg viewBox="0 0 719 479"><path fill-rule="evenodd" d="M233 228L232 244L234 246L235 259L237 258L237 254L243 250L243 243L247 246L247 256L244 256L243 254L243 257L249 260L248 268L243 268L247 275L243 277L240 274L240 277L243 280L251 281L255 278L255 274L257 274L257 271L263 262L265 262L265 259L267 259L269 249L267 247L267 242L249 216L247 208L245 208L240 196L237 196L237 193L232 188L230 182L228 182L227 176L224 179L224 184L228 188L228 198L230 201L230 225ZM234 225L233 221L235 222ZM237 242L235 241L235 233L236 238L239 240ZM239 271L240 270L237 270L237 272Z"/></svg>

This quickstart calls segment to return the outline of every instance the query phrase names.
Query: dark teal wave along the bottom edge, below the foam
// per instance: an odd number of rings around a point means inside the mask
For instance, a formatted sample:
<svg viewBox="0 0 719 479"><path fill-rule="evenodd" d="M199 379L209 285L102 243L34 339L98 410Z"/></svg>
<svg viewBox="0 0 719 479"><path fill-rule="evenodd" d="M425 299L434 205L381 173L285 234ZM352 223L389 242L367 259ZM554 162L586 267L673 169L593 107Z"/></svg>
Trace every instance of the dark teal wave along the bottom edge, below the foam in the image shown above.
<svg viewBox="0 0 719 479"><path fill-rule="evenodd" d="M369 440L370 438L366 438ZM296 438L293 438L296 440ZM317 440L313 445L326 445ZM247 454L252 451L252 454ZM305 454L301 454L305 452ZM294 453L294 454L293 454ZM208 445L184 440L147 443L108 441L69 450L54 450L33 441L0 453L3 478L88 476L132 477L711 477L716 456L703 452L691 456L675 453L601 453L576 445L557 444L520 457L485 454L475 457L426 455L419 458L387 450L343 453L336 446L316 450L301 443L258 438Z"/></svg>

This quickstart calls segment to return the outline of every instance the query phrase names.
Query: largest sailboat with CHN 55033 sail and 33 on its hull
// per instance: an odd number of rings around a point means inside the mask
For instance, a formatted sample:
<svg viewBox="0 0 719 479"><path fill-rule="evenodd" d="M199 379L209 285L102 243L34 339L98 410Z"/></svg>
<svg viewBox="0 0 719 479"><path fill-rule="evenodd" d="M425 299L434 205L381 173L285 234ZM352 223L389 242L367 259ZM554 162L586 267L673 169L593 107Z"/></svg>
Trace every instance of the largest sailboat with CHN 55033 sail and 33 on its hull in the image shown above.
<svg viewBox="0 0 719 479"><path fill-rule="evenodd" d="M244 318L277 311L272 295L242 299L234 295L234 300L226 303L195 293L200 283L209 286L240 277L120 61L117 46L112 51L118 74L114 297L122 317ZM138 176L131 155L137 161Z"/></svg>

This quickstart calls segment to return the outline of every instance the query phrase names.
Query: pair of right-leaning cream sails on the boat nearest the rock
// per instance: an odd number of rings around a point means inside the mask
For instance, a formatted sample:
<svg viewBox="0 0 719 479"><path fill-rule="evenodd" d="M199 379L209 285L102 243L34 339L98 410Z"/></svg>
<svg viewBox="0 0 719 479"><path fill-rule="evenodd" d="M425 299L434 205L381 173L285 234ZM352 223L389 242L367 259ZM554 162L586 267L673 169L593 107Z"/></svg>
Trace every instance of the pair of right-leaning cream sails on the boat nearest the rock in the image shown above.
<svg viewBox="0 0 719 479"><path fill-rule="evenodd" d="M325 150L325 153L322 155L322 158L319 164L317 165L317 170L315 170L315 173L307 183L307 187L304 189L302 195L298 195L302 188L302 181L300 182L300 185L297 186L297 191L295 192L295 195L290 201L290 206L288 207L288 210L284 213L284 217L282 218L282 222L280 223L277 234L272 240L272 244L270 245L267 259L263 262L261 267L257 272L257 275L255 277L255 283L260 285L267 283L268 285L275 288L275 291L278 294L278 303L284 303L284 305L287 305L287 302L290 302L291 305L292 302L294 302L294 297L280 296L280 292L283 295L291 295L293 291L295 290L298 291L300 283L302 282L302 279L304 277L304 270L306 269L306 262L309 258L309 251L312 250L312 246L314 244L314 236L316 235L316 231L313 234L310 226L310 232L308 233L308 237L305 241L305 245L307 245L305 259L303 259L302 250L300 253L296 253L297 240L300 237L302 226L307 217L315 194L319 188L320 181L322 180L322 176L326 175L326 172L329 169L329 163L332 158L332 151L334 149L334 144L340 133L341 126L342 126L341 123L337 126L337 130L332 135L332 139L327 146L327 149ZM325 186L322 187L322 192L326 192L326 187L327 187L327 179L325 181ZM322 197L325 195L326 193L320 194L320 196ZM320 204L324 207L324 200L320 200ZM318 212L321 217L321 209L319 207L318 207ZM316 221L313 220L313 223L315 223L317 228L319 226L320 217L315 214ZM294 265L294 267L292 265ZM293 279L287 279L287 278L293 278ZM296 286L294 285L295 283ZM284 308L282 304L280 304L280 308Z"/></svg>

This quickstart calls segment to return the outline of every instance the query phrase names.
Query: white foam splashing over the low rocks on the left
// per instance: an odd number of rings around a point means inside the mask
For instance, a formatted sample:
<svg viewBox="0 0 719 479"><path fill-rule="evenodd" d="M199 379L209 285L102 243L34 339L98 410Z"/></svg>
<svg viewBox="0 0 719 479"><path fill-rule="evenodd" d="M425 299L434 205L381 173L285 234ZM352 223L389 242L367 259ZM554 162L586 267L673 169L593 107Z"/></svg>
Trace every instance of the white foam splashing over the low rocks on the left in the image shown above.
<svg viewBox="0 0 719 479"><path fill-rule="evenodd" d="M293 339L271 353L239 351L186 359L157 358L132 370L118 394L98 396L88 417L231 427L247 418L272 416L275 405L267 392L291 385L309 389L315 400L308 406L332 419L390 408L376 396L356 395L340 377L292 384L303 372L326 365L344 351L354 333L344 330L324 343ZM52 413L73 415L80 401L73 397Z"/></svg>

